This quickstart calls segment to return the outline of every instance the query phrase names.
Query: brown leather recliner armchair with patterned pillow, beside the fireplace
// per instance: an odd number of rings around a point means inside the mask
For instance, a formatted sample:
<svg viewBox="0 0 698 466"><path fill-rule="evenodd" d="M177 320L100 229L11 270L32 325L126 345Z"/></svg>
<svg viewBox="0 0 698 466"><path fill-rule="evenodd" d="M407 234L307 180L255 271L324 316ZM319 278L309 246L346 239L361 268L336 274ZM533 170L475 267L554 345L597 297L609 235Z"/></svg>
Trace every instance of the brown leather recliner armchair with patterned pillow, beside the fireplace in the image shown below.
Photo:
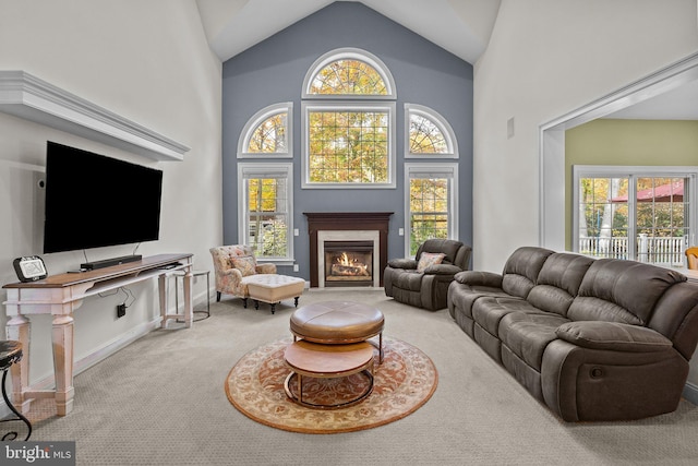
<svg viewBox="0 0 698 466"><path fill-rule="evenodd" d="M443 254L442 262L419 270L422 253ZM470 264L470 247L450 239L428 239L414 259L393 259L383 273L385 295L405 304L437 311L446 307L448 285Z"/></svg>

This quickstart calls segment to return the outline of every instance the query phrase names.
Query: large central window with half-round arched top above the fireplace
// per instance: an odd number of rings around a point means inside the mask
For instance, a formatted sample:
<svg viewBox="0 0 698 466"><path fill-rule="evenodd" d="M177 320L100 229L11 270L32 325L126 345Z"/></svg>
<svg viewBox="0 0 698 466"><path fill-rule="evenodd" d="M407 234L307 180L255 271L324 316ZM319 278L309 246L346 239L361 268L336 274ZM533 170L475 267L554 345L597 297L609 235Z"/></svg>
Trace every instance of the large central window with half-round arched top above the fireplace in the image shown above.
<svg viewBox="0 0 698 466"><path fill-rule="evenodd" d="M303 84L303 188L395 188L395 84L381 60L334 50Z"/></svg>

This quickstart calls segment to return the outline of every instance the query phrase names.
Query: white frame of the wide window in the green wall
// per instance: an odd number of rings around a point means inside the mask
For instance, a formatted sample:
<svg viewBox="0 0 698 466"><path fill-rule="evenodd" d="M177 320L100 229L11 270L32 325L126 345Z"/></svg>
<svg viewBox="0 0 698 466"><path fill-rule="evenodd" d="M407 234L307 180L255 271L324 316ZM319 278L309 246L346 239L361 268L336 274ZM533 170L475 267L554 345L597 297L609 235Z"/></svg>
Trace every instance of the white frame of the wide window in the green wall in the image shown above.
<svg viewBox="0 0 698 466"><path fill-rule="evenodd" d="M571 211L571 250L579 253L579 180L581 178L628 178L628 259L637 261L637 218L635 214L637 198L637 178L687 178L689 218L686 227L688 244L696 243L698 225L698 167L696 166L616 166L616 165L574 165L573 166L573 211ZM633 208L631 208L633 206ZM688 247L686 244L686 247ZM653 262L648 262L653 263ZM662 265L662 263L655 263Z"/></svg>

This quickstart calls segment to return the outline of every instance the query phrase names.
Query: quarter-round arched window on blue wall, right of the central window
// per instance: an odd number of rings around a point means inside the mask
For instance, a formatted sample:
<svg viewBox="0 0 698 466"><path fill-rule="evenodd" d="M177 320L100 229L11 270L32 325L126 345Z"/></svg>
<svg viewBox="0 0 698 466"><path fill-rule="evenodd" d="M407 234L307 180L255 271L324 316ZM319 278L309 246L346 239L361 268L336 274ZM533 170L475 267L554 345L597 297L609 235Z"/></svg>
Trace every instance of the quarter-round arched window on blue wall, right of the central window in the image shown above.
<svg viewBox="0 0 698 466"><path fill-rule="evenodd" d="M458 144L445 118L429 107L405 104L405 157L458 158Z"/></svg>

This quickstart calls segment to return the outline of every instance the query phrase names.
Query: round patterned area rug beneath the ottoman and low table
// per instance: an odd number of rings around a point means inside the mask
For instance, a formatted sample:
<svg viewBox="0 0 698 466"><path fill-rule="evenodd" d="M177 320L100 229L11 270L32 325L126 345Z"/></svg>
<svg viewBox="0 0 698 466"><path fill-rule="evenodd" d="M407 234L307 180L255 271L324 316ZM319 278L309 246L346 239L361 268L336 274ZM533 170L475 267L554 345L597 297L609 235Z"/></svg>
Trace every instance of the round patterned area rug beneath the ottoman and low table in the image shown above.
<svg viewBox="0 0 698 466"><path fill-rule="evenodd" d="M316 409L290 401L284 382L291 372L282 338L258 347L232 368L226 379L230 403L249 418L277 429L303 433L339 433L371 429L414 413L431 398L438 374L420 349L383 337L383 363L375 366L373 392L361 403L337 409ZM375 361L377 362L377 349ZM292 379L296 381L296 378ZM303 378L303 399L341 401L365 389L366 378ZM291 390L294 391L291 385Z"/></svg>

